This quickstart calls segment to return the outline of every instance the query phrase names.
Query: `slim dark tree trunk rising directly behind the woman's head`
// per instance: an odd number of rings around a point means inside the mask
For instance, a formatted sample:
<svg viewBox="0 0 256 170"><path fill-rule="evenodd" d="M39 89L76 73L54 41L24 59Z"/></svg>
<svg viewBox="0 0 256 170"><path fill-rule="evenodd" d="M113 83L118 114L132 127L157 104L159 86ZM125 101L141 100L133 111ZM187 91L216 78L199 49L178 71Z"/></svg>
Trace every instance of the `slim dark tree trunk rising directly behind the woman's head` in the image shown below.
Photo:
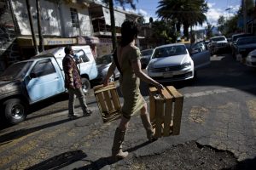
<svg viewBox="0 0 256 170"><path fill-rule="evenodd" d="M115 3L119 3L121 7L125 8L125 3L129 3L131 8L135 9L136 6L133 3L133 0L114 0ZM138 0L137 0L138 1ZM114 23L114 14L113 14L113 0L103 0L104 3L108 3L109 12L110 12L110 20L111 20L111 34L112 34L112 45L113 49L117 47L117 39L116 39L116 31L115 31L115 23Z"/></svg>

